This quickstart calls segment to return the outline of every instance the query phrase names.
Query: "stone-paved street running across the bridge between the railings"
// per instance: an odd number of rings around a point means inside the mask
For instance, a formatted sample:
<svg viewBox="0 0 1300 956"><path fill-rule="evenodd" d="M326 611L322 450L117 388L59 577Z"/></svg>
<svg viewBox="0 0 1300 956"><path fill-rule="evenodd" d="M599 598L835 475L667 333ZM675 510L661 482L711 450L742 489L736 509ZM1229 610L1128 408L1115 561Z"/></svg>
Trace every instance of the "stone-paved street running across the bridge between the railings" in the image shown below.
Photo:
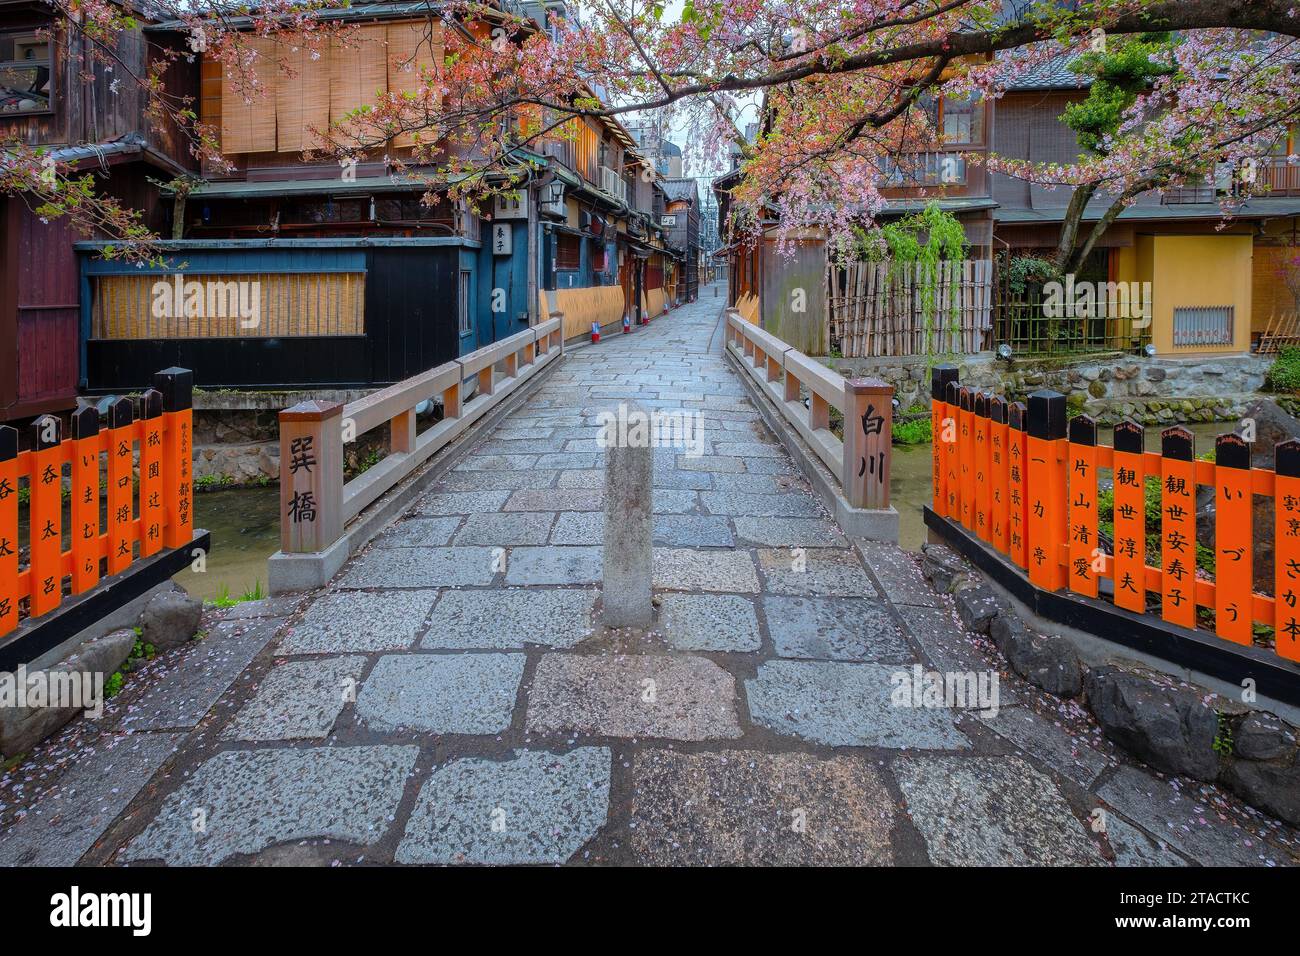
<svg viewBox="0 0 1300 956"><path fill-rule="evenodd" d="M34 784L0 862L1295 861L1009 672L996 715L896 705L914 667L994 658L913 557L827 518L723 302L571 351L329 588L235 609ZM649 633L595 623L595 416L624 398L706 427L655 453Z"/></svg>

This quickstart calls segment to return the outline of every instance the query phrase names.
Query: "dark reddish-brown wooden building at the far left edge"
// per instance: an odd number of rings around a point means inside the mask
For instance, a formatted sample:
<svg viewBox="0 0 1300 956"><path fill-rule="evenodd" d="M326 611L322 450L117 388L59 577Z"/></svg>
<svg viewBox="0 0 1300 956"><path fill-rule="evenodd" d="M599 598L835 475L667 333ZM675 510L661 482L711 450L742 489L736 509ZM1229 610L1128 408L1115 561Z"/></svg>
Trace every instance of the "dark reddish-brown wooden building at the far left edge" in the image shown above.
<svg viewBox="0 0 1300 956"><path fill-rule="evenodd" d="M0 140L46 148L60 176L94 176L99 191L166 233L170 209L153 183L195 166L177 122L146 117L130 74L146 75L179 38L151 33L144 10L120 5L134 25L96 40L114 66L94 61L90 40L61 26L49 5L0 0ZM177 65L165 82L177 96L198 92L198 78ZM72 408L83 382L82 237L66 220L43 220L39 204L0 195L0 420Z"/></svg>

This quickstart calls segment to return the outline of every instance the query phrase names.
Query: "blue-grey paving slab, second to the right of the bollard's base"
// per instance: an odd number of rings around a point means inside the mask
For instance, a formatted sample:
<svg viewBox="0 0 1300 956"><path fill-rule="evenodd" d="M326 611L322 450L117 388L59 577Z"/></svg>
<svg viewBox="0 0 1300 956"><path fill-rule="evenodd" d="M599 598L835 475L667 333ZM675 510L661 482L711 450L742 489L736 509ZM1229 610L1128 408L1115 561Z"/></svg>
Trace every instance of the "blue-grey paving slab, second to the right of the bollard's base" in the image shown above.
<svg viewBox="0 0 1300 956"><path fill-rule="evenodd" d="M915 657L885 606L870 598L767 594L763 615L780 657L897 663Z"/></svg>

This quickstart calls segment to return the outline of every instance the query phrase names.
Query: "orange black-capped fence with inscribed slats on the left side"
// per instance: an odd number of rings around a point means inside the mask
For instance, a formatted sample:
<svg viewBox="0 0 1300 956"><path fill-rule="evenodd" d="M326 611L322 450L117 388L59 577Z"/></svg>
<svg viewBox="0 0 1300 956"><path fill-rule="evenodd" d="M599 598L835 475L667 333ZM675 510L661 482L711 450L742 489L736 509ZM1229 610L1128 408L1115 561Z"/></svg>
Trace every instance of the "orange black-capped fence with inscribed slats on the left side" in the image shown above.
<svg viewBox="0 0 1300 956"><path fill-rule="evenodd" d="M58 418L42 415L25 451L18 432L0 425L0 636L20 618L56 610L65 579L72 594L84 594L135 561L192 541L192 385L188 369L168 368L139 408L117 399L107 428L98 410L79 408L68 437Z"/></svg>

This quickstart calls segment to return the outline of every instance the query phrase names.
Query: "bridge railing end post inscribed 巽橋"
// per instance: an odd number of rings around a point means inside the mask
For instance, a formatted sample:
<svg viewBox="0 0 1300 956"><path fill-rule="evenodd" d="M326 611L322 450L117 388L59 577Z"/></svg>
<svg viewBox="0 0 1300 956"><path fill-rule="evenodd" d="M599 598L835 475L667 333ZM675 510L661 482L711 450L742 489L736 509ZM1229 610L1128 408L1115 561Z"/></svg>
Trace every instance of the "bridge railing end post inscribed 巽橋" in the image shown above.
<svg viewBox="0 0 1300 956"><path fill-rule="evenodd" d="M343 533L343 406L280 412L280 549L324 551Z"/></svg>

